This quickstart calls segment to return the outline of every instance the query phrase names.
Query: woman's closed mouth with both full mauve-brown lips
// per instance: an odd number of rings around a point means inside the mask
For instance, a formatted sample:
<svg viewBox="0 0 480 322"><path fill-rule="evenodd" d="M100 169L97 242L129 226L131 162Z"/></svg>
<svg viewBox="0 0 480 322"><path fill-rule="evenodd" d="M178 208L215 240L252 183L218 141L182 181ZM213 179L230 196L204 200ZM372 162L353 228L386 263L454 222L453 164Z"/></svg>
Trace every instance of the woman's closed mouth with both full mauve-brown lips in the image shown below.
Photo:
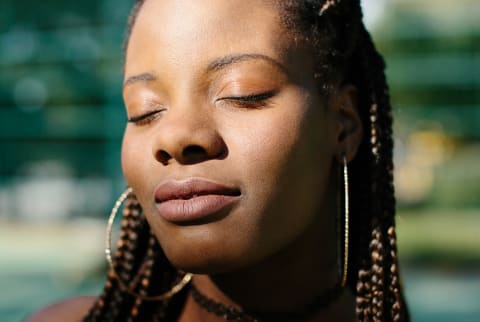
<svg viewBox="0 0 480 322"><path fill-rule="evenodd" d="M240 197L238 188L199 178L169 180L154 193L159 216L176 223L201 223L224 217Z"/></svg>

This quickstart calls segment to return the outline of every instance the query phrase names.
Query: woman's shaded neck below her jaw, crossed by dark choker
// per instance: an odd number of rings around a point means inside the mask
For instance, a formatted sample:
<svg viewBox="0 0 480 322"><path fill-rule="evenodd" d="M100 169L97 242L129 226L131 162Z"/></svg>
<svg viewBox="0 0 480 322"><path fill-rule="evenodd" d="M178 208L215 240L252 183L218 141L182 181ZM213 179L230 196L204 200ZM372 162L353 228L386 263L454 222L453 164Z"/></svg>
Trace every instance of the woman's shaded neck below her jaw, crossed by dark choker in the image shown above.
<svg viewBox="0 0 480 322"><path fill-rule="evenodd" d="M193 283L206 297L252 315L254 312L301 312L340 283L336 247L332 247L336 244L335 229L331 231L332 236L319 236L314 223L282 252L256 265L228 274L196 275ZM353 321L354 302L351 292L344 289L334 303L308 321ZM225 320L207 312L189 295L179 321Z"/></svg>

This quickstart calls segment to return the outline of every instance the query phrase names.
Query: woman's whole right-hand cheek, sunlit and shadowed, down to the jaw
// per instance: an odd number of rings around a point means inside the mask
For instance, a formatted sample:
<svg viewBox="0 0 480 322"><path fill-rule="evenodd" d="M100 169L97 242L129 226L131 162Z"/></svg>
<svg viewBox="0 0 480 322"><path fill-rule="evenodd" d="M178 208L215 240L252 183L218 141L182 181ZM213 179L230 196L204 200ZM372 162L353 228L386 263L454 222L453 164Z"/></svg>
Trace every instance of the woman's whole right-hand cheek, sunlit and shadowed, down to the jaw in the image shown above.
<svg viewBox="0 0 480 322"><path fill-rule="evenodd" d="M248 229L257 233L254 244L270 251L312 222L331 166L325 115L317 107L292 106L230 129L231 154L238 156L235 167L246 188Z"/></svg>

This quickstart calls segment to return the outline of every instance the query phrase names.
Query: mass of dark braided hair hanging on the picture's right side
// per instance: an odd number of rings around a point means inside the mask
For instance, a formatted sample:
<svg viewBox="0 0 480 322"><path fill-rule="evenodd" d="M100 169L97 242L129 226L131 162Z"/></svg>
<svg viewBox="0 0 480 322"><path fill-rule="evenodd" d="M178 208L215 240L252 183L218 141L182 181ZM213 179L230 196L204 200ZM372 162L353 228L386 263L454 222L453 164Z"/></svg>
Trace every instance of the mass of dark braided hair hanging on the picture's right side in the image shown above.
<svg viewBox="0 0 480 322"><path fill-rule="evenodd" d="M321 71L316 72L324 75L324 84L334 80L336 72L337 77L345 75L343 82L357 87L359 112L368 134L352 162L351 172L352 190L358 193L352 198L352 212L356 214L352 240L358 243L352 249L357 261L352 266L358 275L356 281L351 276L349 281L357 290L357 320L408 321L394 230L392 114L385 64L361 22L359 1L305 3L309 13L300 19L314 21L310 34L319 48L318 62L323 62L317 63ZM320 17L312 19L312 12L318 8ZM325 64L325 60L329 63ZM322 85L321 89L329 88Z"/></svg>

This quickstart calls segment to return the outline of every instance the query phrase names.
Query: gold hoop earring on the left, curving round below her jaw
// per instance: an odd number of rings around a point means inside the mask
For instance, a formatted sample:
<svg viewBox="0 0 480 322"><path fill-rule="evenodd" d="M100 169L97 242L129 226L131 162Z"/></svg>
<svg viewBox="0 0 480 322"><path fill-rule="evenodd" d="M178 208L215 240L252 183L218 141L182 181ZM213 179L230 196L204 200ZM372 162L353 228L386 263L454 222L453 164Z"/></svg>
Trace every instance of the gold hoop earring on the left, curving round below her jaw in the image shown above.
<svg viewBox="0 0 480 322"><path fill-rule="evenodd" d="M112 259L112 227L113 227L113 222L115 220L115 216L117 215L118 209L120 209L120 206L122 203L127 199L127 197L133 192L132 188L127 188L117 199L115 202L115 205L112 208L112 211L110 212L110 216L108 217L108 223L107 223L107 229L105 233L105 258L107 259L108 265L110 266L111 272L115 276L118 285L120 288L122 288L125 292L135 296L136 298L140 298L142 300L146 301L164 301L170 299L172 296L180 292L190 281L192 280L193 274L191 273L185 273L183 278L175 284L170 290L168 290L165 293L155 295L155 296L144 296L138 293L133 292L129 287L127 287L122 280L119 278L115 267L113 265L113 259Z"/></svg>

